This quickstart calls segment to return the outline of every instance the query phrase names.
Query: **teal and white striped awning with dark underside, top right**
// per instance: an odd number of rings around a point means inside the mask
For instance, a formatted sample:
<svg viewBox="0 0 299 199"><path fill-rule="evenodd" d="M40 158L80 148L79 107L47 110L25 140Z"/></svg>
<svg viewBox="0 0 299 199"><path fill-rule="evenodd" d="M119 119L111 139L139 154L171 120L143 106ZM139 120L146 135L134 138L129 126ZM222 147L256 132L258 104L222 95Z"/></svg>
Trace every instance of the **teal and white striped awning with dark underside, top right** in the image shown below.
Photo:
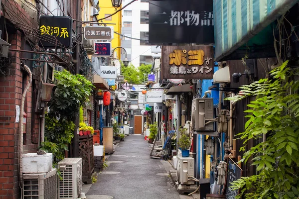
<svg viewBox="0 0 299 199"><path fill-rule="evenodd" d="M298 0L214 0L216 61L274 57L274 21Z"/></svg>

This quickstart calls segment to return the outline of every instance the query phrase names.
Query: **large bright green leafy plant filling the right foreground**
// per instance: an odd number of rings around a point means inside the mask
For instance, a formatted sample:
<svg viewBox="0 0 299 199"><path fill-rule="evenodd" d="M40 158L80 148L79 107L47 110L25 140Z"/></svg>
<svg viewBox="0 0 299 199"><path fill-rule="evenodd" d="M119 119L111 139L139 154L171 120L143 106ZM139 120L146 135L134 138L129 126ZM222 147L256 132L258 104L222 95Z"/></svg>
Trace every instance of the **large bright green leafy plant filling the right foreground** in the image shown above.
<svg viewBox="0 0 299 199"><path fill-rule="evenodd" d="M241 162L252 159L259 174L233 182L240 189L237 198L297 199L299 197L299 70L288 62L270 72L271 79L261 79L240 87L242 95L228 100L256 97L247 106L245 131L239 133L247 143L266 137L244 153ZM295 81L294 81L295 80Z"/></svg>

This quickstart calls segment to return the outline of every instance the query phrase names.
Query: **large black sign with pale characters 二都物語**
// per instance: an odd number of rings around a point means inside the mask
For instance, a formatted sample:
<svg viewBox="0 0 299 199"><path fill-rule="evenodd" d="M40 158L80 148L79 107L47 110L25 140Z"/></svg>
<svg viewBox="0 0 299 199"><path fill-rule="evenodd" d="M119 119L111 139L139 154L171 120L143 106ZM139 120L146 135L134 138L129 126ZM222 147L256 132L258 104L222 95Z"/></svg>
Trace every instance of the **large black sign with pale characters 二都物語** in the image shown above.
<svg viewBox="0 0 299 199"><path fill-rule="evenodd" d="M149 43L214 43L213 0L149 0Z"/></svg>

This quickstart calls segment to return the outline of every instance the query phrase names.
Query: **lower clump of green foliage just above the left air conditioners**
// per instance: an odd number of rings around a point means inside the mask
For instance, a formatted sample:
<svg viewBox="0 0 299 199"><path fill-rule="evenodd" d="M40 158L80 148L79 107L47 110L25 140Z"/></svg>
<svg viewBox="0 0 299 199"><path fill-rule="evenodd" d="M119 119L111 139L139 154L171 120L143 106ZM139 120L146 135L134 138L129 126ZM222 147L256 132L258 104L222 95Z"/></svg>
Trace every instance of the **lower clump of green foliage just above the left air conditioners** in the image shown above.
<svg viewBox="0 0 299 199"><path fill-rule="evenodd" d="M68 150L68 144L74 137L75 124L65 119L45 115L45 141L41 143L41 149L53 153L53 165L64 159L64 151Z"/></svg>

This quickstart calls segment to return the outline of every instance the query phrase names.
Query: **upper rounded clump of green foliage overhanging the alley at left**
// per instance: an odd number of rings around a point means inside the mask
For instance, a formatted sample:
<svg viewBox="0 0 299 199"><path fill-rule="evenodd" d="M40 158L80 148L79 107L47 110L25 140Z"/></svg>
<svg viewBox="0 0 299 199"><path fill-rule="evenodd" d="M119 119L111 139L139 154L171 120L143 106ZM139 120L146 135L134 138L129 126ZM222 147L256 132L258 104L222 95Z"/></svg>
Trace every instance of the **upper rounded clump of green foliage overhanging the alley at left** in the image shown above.
<svg viewBox="0 0 299 199"><path fill-rule="evenodd" d="M63 119L73 120L81 106L85 106L94 88L92 83L82 75L72 75L69 71L55 71L56 90L48 103L49 114Z"/></svg>

